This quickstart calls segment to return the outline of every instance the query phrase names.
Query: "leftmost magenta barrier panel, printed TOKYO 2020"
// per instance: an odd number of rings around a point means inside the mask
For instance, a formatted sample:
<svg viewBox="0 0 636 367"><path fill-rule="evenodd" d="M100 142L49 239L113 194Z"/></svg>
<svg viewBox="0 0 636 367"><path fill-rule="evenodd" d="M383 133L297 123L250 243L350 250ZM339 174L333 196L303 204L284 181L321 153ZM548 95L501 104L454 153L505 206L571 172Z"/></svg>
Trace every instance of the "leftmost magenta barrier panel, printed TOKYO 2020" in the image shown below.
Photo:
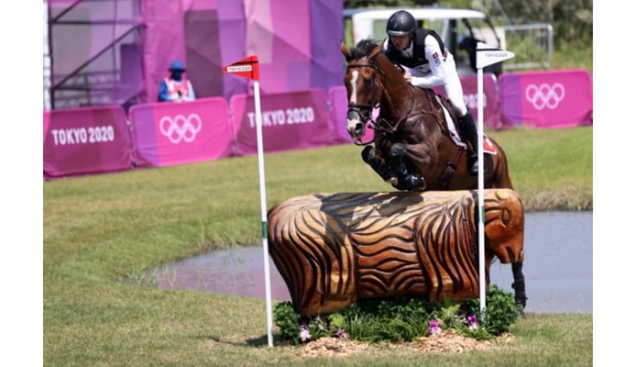
<svg viewBox="0 0 636 367"><path fill-rule="evenodd" d="M120 106L45 112L44 130L45 179L132 167L130 133Z"/></svg>

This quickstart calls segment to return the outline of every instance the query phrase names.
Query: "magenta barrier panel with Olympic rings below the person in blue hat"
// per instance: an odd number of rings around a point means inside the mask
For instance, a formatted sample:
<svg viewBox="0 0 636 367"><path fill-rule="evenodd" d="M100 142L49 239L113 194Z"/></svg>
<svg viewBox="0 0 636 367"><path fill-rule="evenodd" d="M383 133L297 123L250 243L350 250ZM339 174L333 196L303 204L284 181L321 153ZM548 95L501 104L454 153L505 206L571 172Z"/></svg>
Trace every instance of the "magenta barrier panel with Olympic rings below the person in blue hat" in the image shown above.
<svg viewBox="0 0 636 367"><path fill-rule="evenodd" d="M162 167L232 155L232 123L223 97L139 104L130 109L137 167Z"/></svg>

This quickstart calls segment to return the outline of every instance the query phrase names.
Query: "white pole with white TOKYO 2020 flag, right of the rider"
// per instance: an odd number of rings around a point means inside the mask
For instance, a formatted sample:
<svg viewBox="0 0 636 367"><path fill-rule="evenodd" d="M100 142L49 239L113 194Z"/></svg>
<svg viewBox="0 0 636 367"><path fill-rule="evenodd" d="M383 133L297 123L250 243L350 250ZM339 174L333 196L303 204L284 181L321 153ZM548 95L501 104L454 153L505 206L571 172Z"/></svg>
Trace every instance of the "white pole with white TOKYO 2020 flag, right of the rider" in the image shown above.
<svg viewBox="0 0 636 367"><path fill-rule="evenodd" d="M477 154L478 167L478 215L479 215L479 307L481 324L486 322L486 256L484 239L484 204L483 204L483 68L497 62L515 57L515 54L500 48L492 48L485 43L477 44ZM474 147L473 147L474 148Z"/></svg>

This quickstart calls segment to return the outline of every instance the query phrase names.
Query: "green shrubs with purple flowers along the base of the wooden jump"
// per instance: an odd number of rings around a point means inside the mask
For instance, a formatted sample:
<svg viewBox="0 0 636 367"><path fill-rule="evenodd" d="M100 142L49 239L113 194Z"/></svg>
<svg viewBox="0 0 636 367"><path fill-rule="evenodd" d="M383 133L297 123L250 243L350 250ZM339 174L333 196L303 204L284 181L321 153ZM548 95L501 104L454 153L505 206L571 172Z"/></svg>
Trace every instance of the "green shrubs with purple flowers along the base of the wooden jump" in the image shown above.
<svg viewBox="0 0 636 367"><path fill-rule="evenodd" d="M275 307L274 315L280 338L298 344L302 342L301 323L307 326L310 340L338 336L368 342L398 342L429 335L432 320L438 321L442 329L455 329L463 335L483 340L508 331L520 312L513 294L495 285L490 286L487 294L485 326L474 324L471 328L468 319L474 318L478 310L478 299L441 303L399 296L360 300L347 306L342 313L306 318L301 318L291 302L286 301Z"/></svg>

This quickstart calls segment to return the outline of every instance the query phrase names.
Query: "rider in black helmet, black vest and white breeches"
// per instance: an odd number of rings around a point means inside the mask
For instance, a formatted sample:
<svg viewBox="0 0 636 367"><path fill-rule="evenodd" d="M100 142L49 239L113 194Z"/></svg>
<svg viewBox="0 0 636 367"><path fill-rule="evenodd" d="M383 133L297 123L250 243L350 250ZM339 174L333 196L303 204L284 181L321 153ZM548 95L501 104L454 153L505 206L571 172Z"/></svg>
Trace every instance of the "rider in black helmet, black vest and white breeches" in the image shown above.
<svg viewBox="0 0 636 367"><path fill-rule="evenodd" d="M404 78L409 83L421 88L444 86L446 96L459 111L462 135L471 142L469 167L471 176L475 176L478 172L477 129L471 111L464 104L453 55L435 31L417 28L415 18L406 10L396 11L389 17L387 34L384 53L392 62L404 67Z"/></svg>

